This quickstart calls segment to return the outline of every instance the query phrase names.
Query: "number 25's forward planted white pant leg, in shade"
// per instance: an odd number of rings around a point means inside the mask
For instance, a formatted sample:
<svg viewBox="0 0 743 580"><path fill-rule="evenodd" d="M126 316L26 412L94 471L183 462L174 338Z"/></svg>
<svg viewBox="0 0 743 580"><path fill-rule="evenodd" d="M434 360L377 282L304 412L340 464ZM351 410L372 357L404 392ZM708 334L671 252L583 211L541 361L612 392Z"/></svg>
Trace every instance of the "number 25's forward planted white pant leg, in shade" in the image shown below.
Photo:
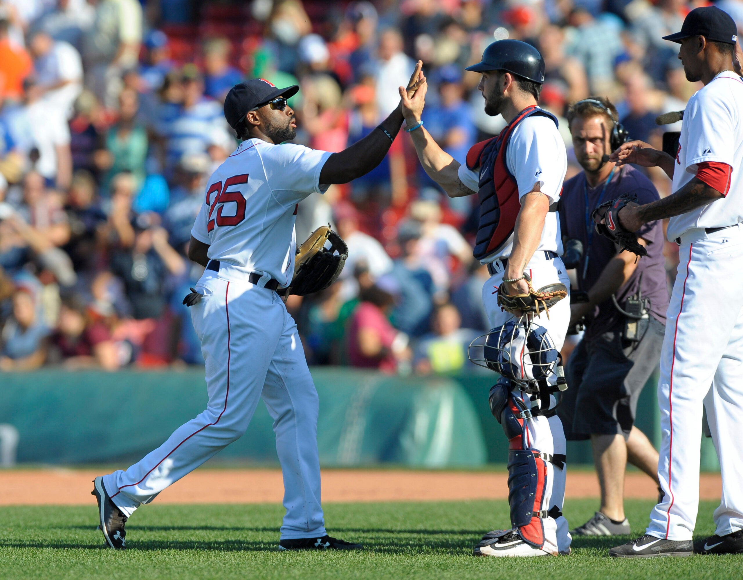
<svg viewBox="0 0 743 580"><path fill-rule="evenodd" d="M296 324L288 312L268 368L263 401L273 418L276 452L284 476L286 514L281 537L322 537L325 520L320 505L317 452L319 401Z"/></svg>

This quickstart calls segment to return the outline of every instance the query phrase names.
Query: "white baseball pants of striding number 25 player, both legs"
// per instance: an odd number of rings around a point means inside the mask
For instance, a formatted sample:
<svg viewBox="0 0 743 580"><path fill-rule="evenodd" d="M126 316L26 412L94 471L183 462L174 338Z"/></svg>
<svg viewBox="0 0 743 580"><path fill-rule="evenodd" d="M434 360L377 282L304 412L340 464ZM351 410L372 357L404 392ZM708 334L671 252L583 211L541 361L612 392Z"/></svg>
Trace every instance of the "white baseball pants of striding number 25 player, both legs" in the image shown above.
<svg viewBox="0 0 743 580"><path fill-rule="evenodd" d="M218 274L205 271L196 286L204 298L191 307L206 361L207 409L126 471L106 475L106 491L131 515L240 438L262 398L274 420L284 477L281 537L325 535L319 403L296 324L276 292L250 284L240 268L222 266Z"/></svg>

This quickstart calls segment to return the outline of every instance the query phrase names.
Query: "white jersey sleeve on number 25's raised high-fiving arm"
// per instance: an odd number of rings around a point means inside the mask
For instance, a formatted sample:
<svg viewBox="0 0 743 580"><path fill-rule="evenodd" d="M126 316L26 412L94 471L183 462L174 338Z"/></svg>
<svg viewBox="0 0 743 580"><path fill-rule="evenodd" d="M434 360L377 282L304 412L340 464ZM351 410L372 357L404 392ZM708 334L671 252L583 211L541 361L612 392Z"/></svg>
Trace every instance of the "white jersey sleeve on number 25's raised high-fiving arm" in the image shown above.
<svg viewBox="0 0 743 580"><path fill-rule="evenodd" d="M267 184L282 205L293 205L309 194L324 194L329 184L320 183L322 166L332 154L304 145L284 143L261 148Z"/></svg>

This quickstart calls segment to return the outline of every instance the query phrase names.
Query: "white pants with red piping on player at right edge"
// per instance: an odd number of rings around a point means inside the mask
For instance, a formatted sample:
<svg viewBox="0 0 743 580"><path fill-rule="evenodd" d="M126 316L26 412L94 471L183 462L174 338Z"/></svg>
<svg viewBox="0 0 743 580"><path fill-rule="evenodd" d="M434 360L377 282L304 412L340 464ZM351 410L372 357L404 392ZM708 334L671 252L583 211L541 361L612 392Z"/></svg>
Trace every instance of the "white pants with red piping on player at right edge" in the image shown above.
<svg viewBox="0 0 743 580"><path fill-rule="evenodd" d="M665 495L650 513L647 533L690 540L699 504L703 403L722 472L716 533L743 528L743 228L688 231L678 253L658 380L658 478Z"/></svg>

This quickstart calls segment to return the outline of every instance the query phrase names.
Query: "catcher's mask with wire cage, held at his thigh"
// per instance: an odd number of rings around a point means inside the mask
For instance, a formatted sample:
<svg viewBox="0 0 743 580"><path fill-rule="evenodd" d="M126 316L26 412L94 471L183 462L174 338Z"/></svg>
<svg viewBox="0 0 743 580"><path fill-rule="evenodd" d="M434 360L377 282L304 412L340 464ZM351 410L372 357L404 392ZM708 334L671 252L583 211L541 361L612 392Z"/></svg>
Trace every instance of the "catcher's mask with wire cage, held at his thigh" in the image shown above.
<svg viewBox="0 0 743 580"><path fill-rule="evenodd" d="M478 336L467 357L517 383L533 383L555 371L559 353L547 329L522 316Z"/></svg>

